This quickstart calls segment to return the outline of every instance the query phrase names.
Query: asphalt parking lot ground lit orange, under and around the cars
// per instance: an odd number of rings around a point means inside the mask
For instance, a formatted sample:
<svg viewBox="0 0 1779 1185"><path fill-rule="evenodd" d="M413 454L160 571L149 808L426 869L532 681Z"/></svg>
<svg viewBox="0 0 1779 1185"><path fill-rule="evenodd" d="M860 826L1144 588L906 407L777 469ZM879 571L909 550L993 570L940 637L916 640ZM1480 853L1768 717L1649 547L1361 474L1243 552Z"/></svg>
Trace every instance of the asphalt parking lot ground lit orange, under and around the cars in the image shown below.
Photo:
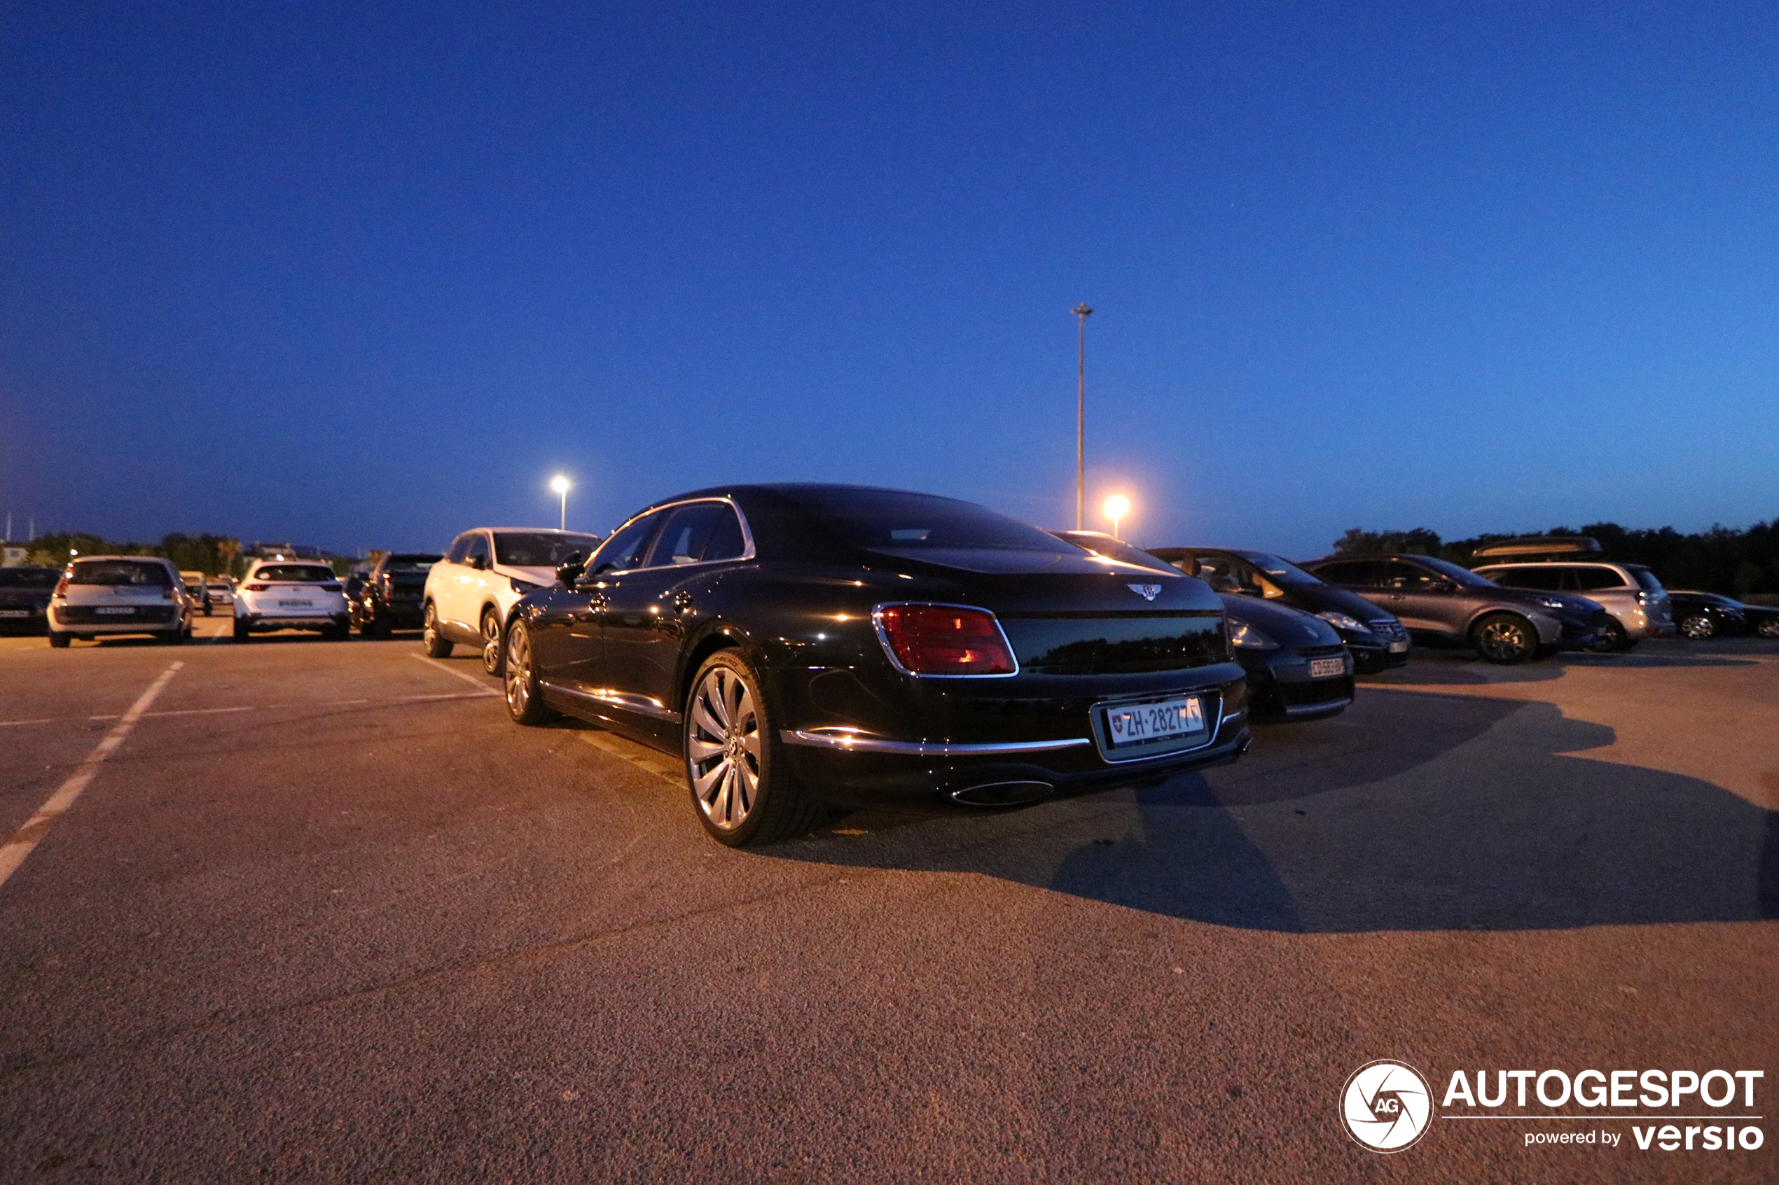
<svg viewBox="0 0 1779 1185"><path fill-rule="evenodd" d="M459 656L0 640L0 837L165 677L0 883L0 1180L1779 1178L1770 1110L1384 1157L1338 1105L1379 1057L1779 1091L1772 641L1418 656L1233 767L763 851Z"/></svg>

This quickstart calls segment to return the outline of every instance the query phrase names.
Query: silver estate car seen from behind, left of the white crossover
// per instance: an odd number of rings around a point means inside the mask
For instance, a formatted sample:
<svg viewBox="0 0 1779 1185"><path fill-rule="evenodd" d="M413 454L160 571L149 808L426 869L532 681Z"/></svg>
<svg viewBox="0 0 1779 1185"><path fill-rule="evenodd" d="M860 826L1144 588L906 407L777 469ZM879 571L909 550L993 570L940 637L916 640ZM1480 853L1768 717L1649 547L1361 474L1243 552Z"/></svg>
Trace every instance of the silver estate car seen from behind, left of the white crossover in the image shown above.
<svg viewBox="0 0 1779 1185"><path fill-rule="evenodd" d="M68 565L50 595L50 645L100 634L153 634L160 641L192 636L192 600L180 570L157 556L82 556Z"/></svg>

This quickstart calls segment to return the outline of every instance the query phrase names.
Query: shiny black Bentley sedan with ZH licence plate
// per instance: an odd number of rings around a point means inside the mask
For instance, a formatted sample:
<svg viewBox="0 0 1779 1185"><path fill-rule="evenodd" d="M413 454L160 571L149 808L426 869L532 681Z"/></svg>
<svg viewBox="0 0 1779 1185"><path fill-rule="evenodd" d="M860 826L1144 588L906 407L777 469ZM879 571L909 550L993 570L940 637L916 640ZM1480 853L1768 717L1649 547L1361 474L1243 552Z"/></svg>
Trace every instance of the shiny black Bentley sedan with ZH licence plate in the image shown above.
<svg viewBox="0 0 1779 1185"><path fill-rule="evenodd" d="M724 844L840 807L1019 807L1247 750L1203 581L929 494L656 503L507 618L507 707L678 753Z"/></svg>

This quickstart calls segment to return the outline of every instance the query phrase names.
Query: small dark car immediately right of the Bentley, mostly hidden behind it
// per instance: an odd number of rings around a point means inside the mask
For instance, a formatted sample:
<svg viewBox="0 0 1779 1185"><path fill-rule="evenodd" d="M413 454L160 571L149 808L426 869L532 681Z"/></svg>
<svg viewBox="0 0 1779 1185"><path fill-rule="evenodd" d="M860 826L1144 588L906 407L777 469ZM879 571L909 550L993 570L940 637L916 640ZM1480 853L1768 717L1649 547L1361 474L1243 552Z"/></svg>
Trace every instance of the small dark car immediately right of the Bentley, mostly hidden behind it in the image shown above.
<svg viewBox="0 0 1779 1185"><path fill-rule="evenodd" d="M1055 531L1055 535L1098 556L1160 572L1176 570L1176 565L1160 554L1101 531ZM1201 579L1222 597L1229 643L1235 647L1236 663L1247 673L1247 705L1252 718L1320 720L1336 716L1352 704L1354 659L1332 625L1279 600L1265 600L1258 593L1245 595L1224 572Z"/></svg>

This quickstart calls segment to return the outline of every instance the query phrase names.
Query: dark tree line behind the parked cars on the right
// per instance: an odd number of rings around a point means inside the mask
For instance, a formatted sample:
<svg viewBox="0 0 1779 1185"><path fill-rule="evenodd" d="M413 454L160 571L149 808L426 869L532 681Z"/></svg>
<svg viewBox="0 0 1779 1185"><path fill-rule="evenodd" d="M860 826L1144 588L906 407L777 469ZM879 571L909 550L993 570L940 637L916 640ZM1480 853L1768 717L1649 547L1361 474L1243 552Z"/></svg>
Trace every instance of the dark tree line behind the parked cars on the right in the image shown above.
<svg viewBox="0 0 1779 1185"><path fill-rule="evenodd" d="M1756 522L1745 531L1713 526L1710 531L1681 535L1670 526L1622 528L1617 522L1589 522L1574 529L1553 526L1546 535L1589 535L1599 540L1601 554L1621 563L1647 565L1669 588L1699 588L1726 597L1761 597L1779 593L1779 519ZM1478 535L1445 542L1427 528L1413 531L1366 531L1352 528L1334 540L1334 554L1398 553L1439 556L1468 569L1487 563L1475 551L1514 535Z"/></svg>

